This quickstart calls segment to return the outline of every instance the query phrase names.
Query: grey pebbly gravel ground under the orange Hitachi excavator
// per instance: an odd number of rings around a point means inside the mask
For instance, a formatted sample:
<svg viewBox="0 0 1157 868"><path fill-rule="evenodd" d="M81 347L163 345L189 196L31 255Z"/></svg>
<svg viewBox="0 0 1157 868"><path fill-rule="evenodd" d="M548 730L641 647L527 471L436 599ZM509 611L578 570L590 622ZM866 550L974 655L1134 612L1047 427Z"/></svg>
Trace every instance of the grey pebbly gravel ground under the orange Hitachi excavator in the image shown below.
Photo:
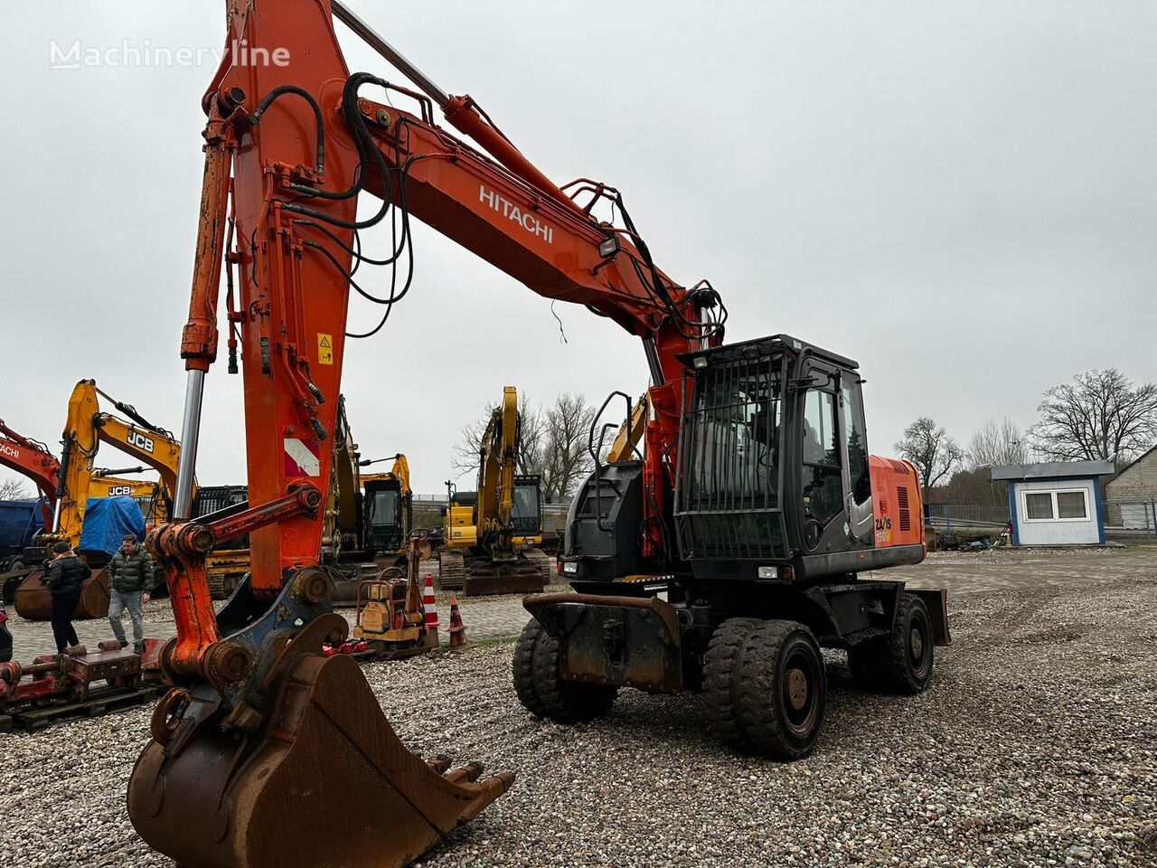
<svg viewBox="0 0 1157 868"><path fill-rule="evenodd" d="M429 866L1157 865L1157 568L951 613L920 697L858 692L830 655L824 737L793 764L706 740L693 696L538 721L508 643L366 672L415 750L518 774ZM0 865L171 865L123 807L146 718L0 736Z"/></svg>

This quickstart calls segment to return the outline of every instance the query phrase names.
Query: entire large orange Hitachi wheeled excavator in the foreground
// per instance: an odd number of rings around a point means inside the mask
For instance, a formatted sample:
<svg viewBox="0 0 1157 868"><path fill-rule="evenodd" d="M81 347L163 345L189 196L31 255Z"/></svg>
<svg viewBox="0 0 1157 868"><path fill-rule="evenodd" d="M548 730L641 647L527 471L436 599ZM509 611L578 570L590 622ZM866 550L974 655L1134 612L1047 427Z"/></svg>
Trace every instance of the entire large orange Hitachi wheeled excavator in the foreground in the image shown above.
<svg viewBox="0 0 1157 868"><path fill-rule="evenodd" d="M226 9L235 50L202 101L186 459L174 521L149 536L177 637L161 655L175 686L128 785L145 841L191 868L403 866L513 782L407 751L358 664L323 653L348 632L317 564L345 343L379 331L404 300L411 219L610 318L641 341L650 375L640 457L599 456L572 507L574 593L525 601L514 679L532 713L594 716L624 685L702 689L724 737L799 756L824 718L820 645L904 689L928 684L948 638L943 595L860 578L924 549L912 466L868 457L854 361L786 334L724 344L718 293L659 270L617 190L555 185L471 97L447 94L339 0ZM413 86L351 74L338 22ZM274 51L289 61L248 62ZM359 216L363 192L378 205ZM612 204L618 223L596 216ZM392 244L371 253L364 230L385 229L381 240L391 226ZM375 295L355 263L401 279ZM223 266L250 502L193 521ZM347 324L351 289L378 306L376 323ZM205 557L243 532L261 608L227 633Z"/></svg>

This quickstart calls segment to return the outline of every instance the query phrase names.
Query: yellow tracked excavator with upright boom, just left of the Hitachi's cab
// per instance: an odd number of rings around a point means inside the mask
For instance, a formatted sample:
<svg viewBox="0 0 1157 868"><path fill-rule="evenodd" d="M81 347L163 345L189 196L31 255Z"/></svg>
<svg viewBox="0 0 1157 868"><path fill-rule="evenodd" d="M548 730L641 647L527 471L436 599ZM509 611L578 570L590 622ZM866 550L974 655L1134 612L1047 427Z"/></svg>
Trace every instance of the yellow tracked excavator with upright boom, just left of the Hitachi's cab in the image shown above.
<svg viewBox="0 0 1157 868"><path fill-rule="evenodd" d="M479 444L478 490L447 483L439 584L464 596L533 594L551 578L543 542L539 478L517 473L522 449L518 390L508 385Z"/></svg>

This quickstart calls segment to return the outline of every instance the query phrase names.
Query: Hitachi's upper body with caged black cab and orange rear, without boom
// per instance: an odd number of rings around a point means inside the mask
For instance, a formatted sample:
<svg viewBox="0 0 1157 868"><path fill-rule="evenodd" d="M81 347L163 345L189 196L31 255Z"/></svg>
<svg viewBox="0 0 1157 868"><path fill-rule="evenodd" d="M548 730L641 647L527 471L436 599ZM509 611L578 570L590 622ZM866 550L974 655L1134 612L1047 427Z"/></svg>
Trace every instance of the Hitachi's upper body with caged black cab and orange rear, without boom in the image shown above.
<svg viewBox="0 0 1157 868"><path fill-rule="evenodd" d="M783 334L679 359L677 571L760 583L923 558L915 473L869 458L855 361ZM563 574L595 591L666 572L641 551L642 498L642 462L597 466L572 505Z"/></svg>

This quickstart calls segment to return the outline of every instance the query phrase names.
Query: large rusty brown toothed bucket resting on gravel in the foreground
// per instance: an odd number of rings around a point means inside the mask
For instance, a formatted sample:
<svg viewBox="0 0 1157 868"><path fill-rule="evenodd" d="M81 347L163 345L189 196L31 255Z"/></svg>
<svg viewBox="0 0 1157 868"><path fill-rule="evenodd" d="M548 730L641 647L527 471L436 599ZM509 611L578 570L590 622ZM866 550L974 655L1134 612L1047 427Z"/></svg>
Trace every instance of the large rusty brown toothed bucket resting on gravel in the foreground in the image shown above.
<svg viewBox="0 0 1157 868"><path fill-rule="evenodd" d="M400 868L514 781L478 780L477 765L445 773L447 760L406 750L351 657L318 645L285 663L249 734L221 726L207 685L157 706L128 785L130 817L154 849L186 868Z"/></svg>

